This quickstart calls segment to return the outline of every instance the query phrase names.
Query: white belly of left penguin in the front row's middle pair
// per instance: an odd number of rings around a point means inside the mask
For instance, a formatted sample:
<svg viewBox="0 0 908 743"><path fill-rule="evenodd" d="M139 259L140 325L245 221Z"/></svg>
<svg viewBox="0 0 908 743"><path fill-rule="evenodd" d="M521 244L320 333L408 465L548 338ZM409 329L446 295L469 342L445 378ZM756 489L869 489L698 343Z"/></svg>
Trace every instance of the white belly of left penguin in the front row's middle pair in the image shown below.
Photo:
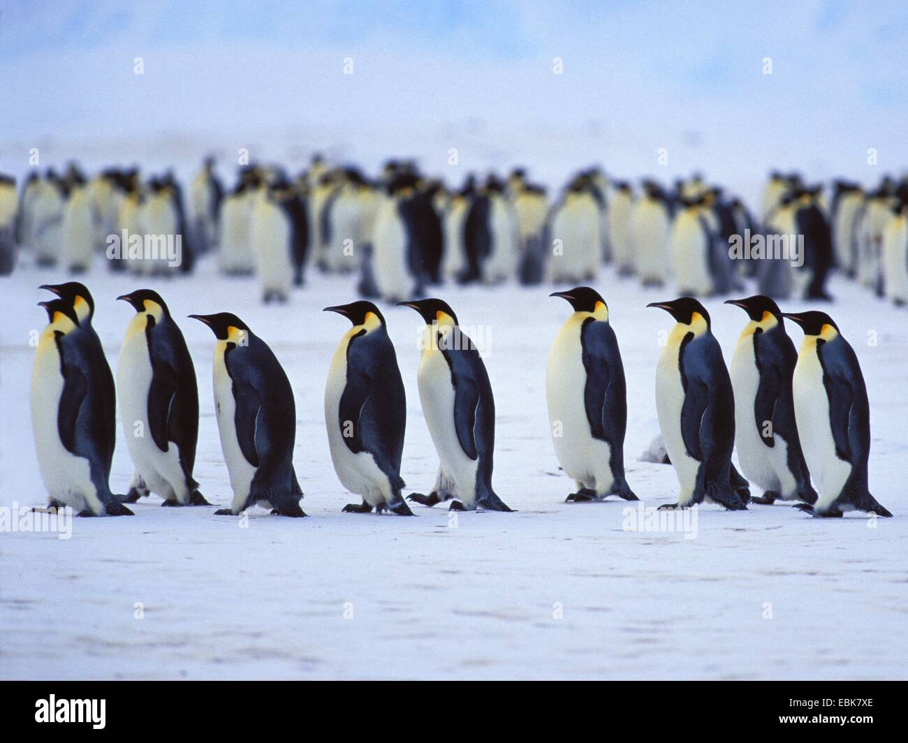
<svg viewBox="0 0 908 743"><path fill-rule="evenodd" d="M351 493L362 496L370 506L377 506L391 499L387 476L380 471L368 451L350 451L341 431L341 395L347 386L347 344L343 343L331 359L331 371L325 387L325 426L331 461L338 479ZM356 425L356 421L352 421Z"/></svg>

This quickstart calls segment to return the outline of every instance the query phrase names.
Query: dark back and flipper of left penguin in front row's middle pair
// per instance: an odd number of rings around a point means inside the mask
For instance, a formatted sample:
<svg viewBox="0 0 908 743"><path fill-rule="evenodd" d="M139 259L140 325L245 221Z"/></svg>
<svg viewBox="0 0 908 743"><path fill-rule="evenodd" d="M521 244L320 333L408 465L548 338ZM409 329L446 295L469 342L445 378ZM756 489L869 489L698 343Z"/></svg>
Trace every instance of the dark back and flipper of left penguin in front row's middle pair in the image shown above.
<svg viewBox="0 0 908 743"><path fill-rule="evenodd" d="M372 394L380 391L380 394ZM353 422L344 443L354 454L368 451L391 488L400 490L403 440L407 427L407 398L394 347L383 328L350 339L347 383L339 405L341 431Z"/></svg>

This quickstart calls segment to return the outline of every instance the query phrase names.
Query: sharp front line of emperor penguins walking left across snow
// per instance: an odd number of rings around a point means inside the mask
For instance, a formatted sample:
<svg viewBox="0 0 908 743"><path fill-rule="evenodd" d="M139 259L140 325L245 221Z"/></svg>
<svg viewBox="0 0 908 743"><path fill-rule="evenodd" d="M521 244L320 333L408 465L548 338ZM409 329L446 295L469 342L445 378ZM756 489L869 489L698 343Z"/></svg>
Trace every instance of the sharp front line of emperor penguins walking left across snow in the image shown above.
<svg viewBox="0 0 908 743"><path fill-rule="evenodd" d="M183 333L151 290L118 297L135 310L117 369L123 426L135 464L133 490L114 495L114 381L92 328L94 298L84 284L42 287L48 324L35 354L32 420L48 506L83 516L131 515L123 505L155 492L164 506L209 506L192 478L199 428L195 371ZM547 400L558 461L577 490L568 502L617 495L637 500L624 470L627 396L617 335L602 296L587 286L553 297L572 312L548 356ZM870 406L852 346L825 312L780 312L764 295L729 300L748 322L732 373L693 297L648 306L675 321L656 366L656 410L680 486L675 504L795 500L814 516L849 510L891 516L868 490ZM425 323L420 342L419 401L439 455L429 494L411 493L400 477L406 395L380 309L365 300L334 307L350 328L331 359L325 425L331 461L343 486L360 496L343 510L412 516L407 500L450 510L511 509L492 484L495 400L479 351L440 299L400 302ZM293 392L267 343L230 312L192 314L214 334L215 412L239 515L253 505L302 517L293 469ZM804 332L801 349L785 319ZM801 440L798 430L809 431ZM737 442L745 475L731 461ZM811 473L817 490L811 484Z"/></svg>

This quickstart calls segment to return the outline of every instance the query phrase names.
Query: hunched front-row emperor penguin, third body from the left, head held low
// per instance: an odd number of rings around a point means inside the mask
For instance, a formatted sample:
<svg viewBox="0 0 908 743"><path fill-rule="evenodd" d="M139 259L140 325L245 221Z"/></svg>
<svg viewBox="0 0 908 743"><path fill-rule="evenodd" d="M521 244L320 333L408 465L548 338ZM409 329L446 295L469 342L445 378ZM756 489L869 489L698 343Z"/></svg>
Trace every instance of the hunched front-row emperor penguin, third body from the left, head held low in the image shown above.
<svg viewBox="0 0 908 743"><path fill-rule="evenodd" d="M190 315L212 329L214 410L233 500L217 516L252 505L301 517L302 490L293 469L296 405L281 363L268 345L230 312Z"/></svg>

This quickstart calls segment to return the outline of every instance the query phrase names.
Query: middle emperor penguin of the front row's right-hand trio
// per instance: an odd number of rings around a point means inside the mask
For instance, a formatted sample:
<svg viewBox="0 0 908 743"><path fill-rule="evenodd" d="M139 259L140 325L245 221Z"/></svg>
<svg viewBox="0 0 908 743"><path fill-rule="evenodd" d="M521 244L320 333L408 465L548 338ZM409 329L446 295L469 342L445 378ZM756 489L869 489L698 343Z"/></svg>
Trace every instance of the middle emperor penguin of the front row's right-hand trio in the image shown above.
<svg viewBox="0 0 908 743"><path fill-rule="evenodd" d="M735 443L745 476L763 488L755 503L816 502L795 421L792 375L797 352L778 305L756 294L730 299L749 318L732 355Z"/></svg>

